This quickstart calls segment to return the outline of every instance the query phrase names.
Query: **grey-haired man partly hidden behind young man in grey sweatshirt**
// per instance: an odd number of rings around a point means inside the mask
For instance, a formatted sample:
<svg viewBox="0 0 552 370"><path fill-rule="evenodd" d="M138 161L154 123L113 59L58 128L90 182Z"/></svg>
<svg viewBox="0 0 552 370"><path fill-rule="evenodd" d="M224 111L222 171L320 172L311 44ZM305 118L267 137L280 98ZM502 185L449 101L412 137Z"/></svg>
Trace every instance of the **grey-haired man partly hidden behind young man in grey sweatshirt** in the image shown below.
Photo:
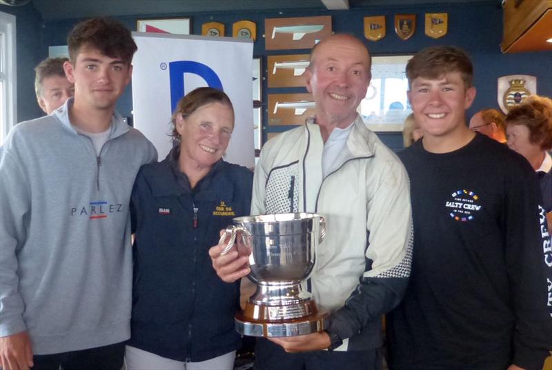
<svg viewBox="0 0 552 370"><path fill-rule="evenodd" d="M47 58L34 68L34 92L46 114L52 114L75 94L75 85L68 81L63 63L67 58Z"/></svg>

